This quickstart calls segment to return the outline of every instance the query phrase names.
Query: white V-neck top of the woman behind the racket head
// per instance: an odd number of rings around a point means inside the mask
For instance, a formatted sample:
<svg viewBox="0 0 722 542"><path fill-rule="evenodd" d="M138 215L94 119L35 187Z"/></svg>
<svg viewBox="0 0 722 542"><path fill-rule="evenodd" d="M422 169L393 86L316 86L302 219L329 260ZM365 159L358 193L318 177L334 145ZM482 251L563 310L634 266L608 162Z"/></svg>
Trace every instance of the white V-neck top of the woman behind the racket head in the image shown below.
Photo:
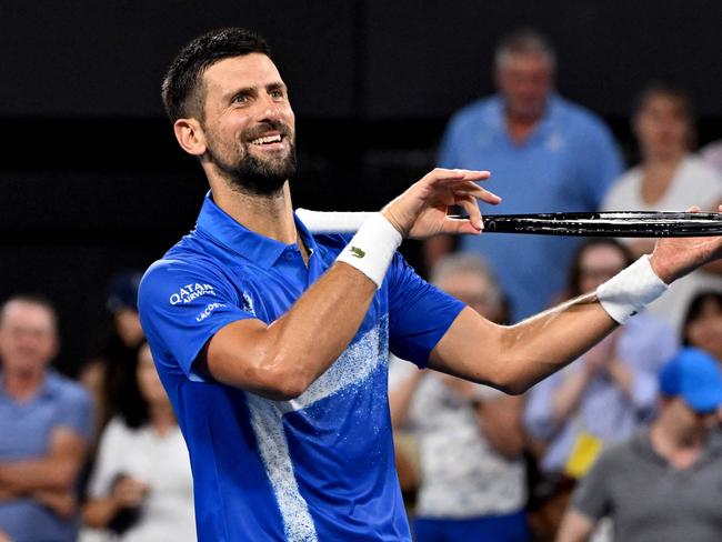
<svg viewBox="0 0 722 542"><path fill-rule="evenodd" d="M653 204L642 200L642 169L632 168L610 189L602 202L603 211L684 211L698 205L711 211L722 200L722 177L700 158L689 154L678 168L662 198ZM631 243L633 239L622 239ZM722 277L695 271L674 282L669 291L649 307L680 330L692 297L702 290L722 291Z"/></svg>

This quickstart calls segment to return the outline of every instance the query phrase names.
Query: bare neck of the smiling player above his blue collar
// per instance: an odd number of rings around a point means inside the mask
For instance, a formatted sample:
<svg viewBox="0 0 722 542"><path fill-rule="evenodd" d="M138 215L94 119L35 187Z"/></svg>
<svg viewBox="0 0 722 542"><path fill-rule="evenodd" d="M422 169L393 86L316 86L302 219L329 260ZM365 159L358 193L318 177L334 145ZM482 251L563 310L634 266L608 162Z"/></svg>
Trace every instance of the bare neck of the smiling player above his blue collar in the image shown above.
<svg viewBox="0 0 722 542"><path fill-rule="evenodd" d="M235 221L261 235L285 244L297 242L293 205L288 181L273 195L241 193L225 180L209 175L213 201Z"/></svg>

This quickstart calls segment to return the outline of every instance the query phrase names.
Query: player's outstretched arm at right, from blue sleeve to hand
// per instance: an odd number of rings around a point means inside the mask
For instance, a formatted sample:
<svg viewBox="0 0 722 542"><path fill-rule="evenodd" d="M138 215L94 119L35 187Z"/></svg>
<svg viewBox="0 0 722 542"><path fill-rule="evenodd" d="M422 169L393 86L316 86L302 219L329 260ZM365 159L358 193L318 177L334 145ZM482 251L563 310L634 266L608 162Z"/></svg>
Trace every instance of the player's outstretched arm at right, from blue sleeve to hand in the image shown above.
<svg viewBox="0 0 722 542"><path fill-rule="evenodd" d="M720 252L722 238L663 239L649 257L646 273L669 284ZM614 299L634 297L639 275L629 271L611 279ZM596 292L511 327L494 324L465 308L433 348L429 367L518 394L579 358L616 325Z"/></svg>

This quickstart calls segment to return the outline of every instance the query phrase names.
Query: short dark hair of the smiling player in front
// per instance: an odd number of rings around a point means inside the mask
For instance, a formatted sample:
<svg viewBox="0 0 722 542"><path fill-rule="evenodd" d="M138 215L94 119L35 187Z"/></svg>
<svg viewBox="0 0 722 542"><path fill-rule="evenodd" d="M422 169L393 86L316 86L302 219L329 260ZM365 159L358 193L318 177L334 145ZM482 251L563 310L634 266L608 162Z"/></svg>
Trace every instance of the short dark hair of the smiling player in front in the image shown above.
<svg viewBox="0 0 722 542"><path fill-rule="evenodd" d="M178 53L161 86L171 122L188 117L203 120L203 73L220 60L258 52L271 58L268 43L244 28L220 28L199 36Z"/></svg>

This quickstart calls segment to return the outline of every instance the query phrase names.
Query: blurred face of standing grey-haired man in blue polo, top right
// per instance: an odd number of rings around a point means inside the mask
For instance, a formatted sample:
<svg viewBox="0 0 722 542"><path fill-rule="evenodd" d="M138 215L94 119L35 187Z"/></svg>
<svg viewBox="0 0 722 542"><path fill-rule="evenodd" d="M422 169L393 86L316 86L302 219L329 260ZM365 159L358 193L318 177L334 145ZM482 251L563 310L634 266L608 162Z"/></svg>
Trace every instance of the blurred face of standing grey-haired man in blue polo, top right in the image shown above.
<svg viewBox="0 0 722 542"><path fill-rule="evenodd" d="M527 119L540 118L552 88L552 72L550 59L542 54L508 54L495 74L507 112Z"/></svg>

